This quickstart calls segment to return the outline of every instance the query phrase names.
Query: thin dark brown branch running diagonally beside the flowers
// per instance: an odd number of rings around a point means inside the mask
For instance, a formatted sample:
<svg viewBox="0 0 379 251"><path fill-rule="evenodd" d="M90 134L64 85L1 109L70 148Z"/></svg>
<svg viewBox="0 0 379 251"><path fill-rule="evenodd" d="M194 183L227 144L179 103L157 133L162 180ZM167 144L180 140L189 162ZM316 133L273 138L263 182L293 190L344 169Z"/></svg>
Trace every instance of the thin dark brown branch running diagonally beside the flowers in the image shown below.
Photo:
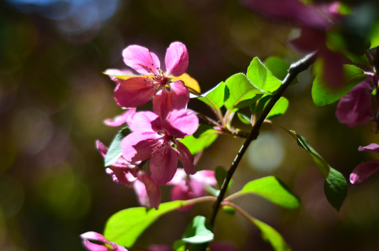
<svg viewBox="0 0 379 251"><path fill-rule="evenodd" d="M241 149L239 149L235 157L235 160L233 160L232 162L232 165L230 165L230 168L223 181L223 185L221 185L220 193L218 194L217 200L214 203L211 219L209 220L212 227L214 227L214 222L216 220L218 210L220 209L221 202L223 201L225 197L225 192L228 188L228 184L233 174L235 173L235 170L237 169L237 166L239 165L241 158L244 156L244 153L248 149L248 146L253 140L255 140L258 137L259 130L260 130L260 127L262 126L262 123L265 121L272 107L274 107L276 101L278 101L278 99L281 98L281 96L283 96L284 91L288 88L292 80L295 79L295 77L297 77L299 73L302 73L304 70L309 68L309 66L311 66L311 64L315 61L315 59L316 59L316 52L312 52L304 56L304 58L300 59L299 61L296 61L295 63L291 64L290 68L288 69L288 74L283 79L281 86L273 93L272 98L269 100L269 103L267 104L265 109L263 109L262 114L260 114L257 121L254 123L253 128L251 128L251 132L246 137L246 140L244 144L241 146Z"/></svg>

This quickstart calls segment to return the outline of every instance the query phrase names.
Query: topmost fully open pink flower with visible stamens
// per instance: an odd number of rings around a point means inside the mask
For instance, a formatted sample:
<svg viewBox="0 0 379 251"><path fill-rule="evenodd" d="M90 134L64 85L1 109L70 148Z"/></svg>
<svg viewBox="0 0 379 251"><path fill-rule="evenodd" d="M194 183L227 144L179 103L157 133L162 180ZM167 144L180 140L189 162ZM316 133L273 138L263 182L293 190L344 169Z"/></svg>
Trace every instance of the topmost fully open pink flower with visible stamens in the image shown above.
<svg viewBox="0 0 379 251"><path fill-rule="evenodd" d="M114 79L117 82L114 99L121 107L138 107L154 98L156 114L166 116L172 109L184 109L188 105L189 91L184 82L172 82L172 77L184 74L188 67L188 52L180 42L171 43L165 55L166 72L161 70L158 56L140 45L130 45L122 52L124 63L141 77Z"/></svg>

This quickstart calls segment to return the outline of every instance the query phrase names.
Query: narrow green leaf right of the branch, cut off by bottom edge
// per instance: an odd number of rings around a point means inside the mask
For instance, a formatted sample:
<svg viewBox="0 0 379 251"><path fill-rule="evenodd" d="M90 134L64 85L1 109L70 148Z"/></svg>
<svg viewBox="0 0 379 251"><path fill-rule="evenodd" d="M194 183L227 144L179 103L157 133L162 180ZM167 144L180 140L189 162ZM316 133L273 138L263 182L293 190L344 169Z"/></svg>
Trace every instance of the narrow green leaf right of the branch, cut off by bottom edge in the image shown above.
<svg viewBox="0 0 379 251"><path fill-rule="evenodd" d="M260 229L262 233L262 239L269 242L272 245L272 248L276 251L290 251L290 247L285 243L284 238L281 234L278 233L273 227L267 225L265 222L262 222L258 219L250 219L253 224Z"/></svg>

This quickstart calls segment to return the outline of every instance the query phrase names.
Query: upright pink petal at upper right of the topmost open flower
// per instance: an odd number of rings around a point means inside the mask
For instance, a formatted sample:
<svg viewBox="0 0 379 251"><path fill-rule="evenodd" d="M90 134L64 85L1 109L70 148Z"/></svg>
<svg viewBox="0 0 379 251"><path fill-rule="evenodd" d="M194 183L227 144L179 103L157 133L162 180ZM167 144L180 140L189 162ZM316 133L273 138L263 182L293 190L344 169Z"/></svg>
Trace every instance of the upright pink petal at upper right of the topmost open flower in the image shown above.
<svg viewBox="0 0 379 251"><path fill-rule="evenodd" d="M188 68L188 52L186 45L180 42L171 43L165 56L167 75L179 77L186 73Z"/></svg>

